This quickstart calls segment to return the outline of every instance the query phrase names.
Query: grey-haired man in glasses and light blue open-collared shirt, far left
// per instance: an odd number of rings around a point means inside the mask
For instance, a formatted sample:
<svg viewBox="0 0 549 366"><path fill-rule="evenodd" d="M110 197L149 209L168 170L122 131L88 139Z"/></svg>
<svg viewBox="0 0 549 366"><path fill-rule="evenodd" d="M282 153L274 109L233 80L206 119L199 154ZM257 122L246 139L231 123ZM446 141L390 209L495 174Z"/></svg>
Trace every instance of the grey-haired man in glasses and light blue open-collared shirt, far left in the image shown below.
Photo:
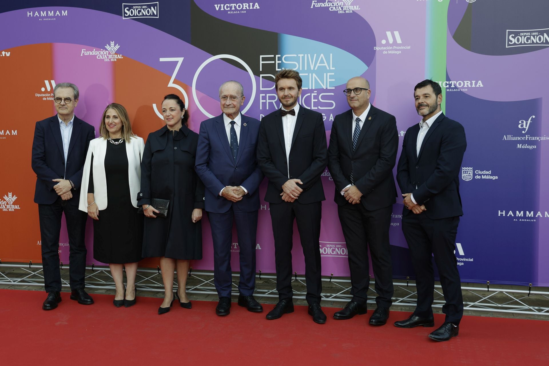
<svg viewBox="0 0 549 366"><path fill-rule="evenodd" d="M61 301L59 270L59 232L65 213L69 234L69 274L71 300L83 305L93 303L84 290L86 271L86 212L78 209L82 168L94 128L74 115L79 91L71 83L53 89L57 115L36 122L32 141L32 170L36 173L34 201L38 204L42 239L44 287L48 296L42 308L51 310Z"/></svg>

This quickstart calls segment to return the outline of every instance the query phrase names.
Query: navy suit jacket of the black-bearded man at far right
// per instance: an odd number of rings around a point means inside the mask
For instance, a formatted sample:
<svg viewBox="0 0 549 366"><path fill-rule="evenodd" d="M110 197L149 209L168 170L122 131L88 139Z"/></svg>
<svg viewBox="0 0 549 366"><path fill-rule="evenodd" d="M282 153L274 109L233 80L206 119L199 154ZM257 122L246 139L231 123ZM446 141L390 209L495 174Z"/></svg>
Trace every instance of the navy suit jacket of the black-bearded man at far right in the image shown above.
<svg viewBox="0 0 549 366"><path fill-rule="evenodd" d="M459 173L467 147L463 126L444 115L429 127L416 155L419 123L408 128L402 143L396 180L401 192L413 193L431 219L463 215ZM417 188L416 188L417 187ZM404 207L403 215L414 215Z"/></svg>

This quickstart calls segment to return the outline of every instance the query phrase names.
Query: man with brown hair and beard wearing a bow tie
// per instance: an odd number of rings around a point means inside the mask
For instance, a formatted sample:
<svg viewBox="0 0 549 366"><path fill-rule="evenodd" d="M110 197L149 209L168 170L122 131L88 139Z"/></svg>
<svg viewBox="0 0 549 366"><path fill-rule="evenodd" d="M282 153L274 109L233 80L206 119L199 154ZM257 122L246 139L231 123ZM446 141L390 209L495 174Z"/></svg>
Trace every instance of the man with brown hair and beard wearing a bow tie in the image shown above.
<svg viewBox="0 0 549 366"><path fill-rule="evenodd" d="M268 178L265 201L269 202L273 236L278 303L267 319L294 311L292 302L292 245L294 220L298 224L305 256L306 300L309 314L326 322L320 306L320 219L324 189L320 176L328 156L322 114L299 105L299 72L283 69L275 77L282 108L261 120L257 162Z"/></svg>

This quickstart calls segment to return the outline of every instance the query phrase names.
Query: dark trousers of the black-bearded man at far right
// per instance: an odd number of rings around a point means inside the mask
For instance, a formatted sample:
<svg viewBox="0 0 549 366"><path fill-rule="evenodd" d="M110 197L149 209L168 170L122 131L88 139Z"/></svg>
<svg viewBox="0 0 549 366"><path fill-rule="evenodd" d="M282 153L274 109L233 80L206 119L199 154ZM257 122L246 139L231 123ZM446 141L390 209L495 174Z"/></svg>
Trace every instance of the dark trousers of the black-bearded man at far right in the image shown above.
<svg viewBox="0 0 549 366"><path fill-rule="evenodd" d="M457 271L456 249L457 226L460 217L430 219L425 213L408 213L402 217L402 232L410 249L412 265L416 271L418 317L433 316L434 273L432 258L439 270L440 284L445 304L442 312L445 322L460 324L463 316L460 272Z"/></svg>

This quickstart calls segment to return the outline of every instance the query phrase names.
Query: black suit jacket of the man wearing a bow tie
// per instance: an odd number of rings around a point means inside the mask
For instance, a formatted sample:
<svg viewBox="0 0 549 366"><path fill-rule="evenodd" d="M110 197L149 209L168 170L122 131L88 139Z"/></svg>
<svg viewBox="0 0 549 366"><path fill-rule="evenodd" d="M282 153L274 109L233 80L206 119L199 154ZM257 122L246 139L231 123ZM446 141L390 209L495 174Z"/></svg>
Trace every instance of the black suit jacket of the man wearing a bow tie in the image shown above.
<svg viewBox="0 0 549 366"><path fill-rule="evenodd" d="M280 110L261 119L257 141L257 163L269 180L265 201L282 202L282 185L288 179L301 179L303 192L296 202L310 204L324 200L320 174L328 162L326 130L322 114L299 106L292 147L290 147L290 176L284 144L284 129Z"/></svg>

